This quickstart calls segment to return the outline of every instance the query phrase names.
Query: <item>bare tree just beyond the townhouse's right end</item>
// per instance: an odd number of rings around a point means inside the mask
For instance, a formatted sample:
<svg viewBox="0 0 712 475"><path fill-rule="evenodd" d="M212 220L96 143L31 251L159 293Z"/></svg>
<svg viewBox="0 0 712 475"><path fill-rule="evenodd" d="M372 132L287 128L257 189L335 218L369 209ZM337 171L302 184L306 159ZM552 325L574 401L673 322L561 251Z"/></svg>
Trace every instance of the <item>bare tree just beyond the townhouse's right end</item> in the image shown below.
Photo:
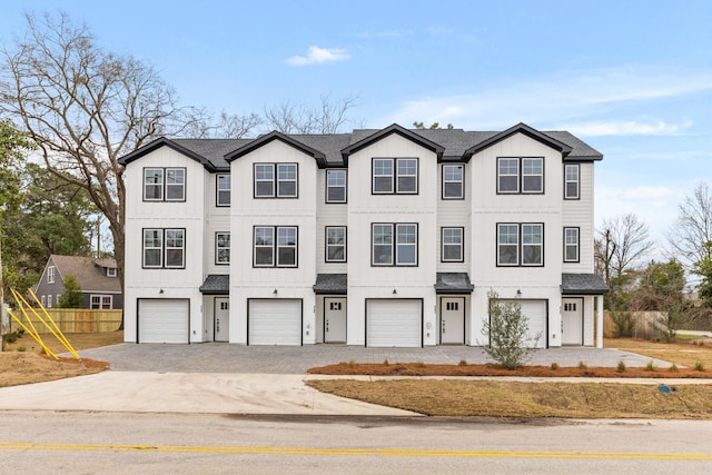
<svg viewBox="0 0 712 475"><path fill-rule="evenodd" d="M627 277L643 263L653 243L649 240L647 225L632 212L605 219L596 234L595 264L611 289L606 295L610 307Z"/></svg>

